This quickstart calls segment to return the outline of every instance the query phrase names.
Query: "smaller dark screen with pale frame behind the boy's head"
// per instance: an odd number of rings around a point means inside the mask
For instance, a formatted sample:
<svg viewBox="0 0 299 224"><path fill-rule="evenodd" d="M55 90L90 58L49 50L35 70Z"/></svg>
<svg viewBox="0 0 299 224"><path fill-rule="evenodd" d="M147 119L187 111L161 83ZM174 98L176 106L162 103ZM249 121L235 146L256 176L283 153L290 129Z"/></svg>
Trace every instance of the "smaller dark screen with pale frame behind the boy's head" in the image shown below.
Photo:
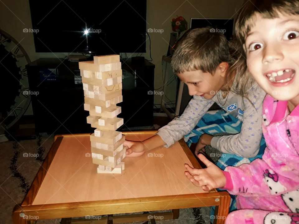
<svg viewBox="0 0 299 224"><path fill-rule="evenodd" d="M234 19L205 19L191 18L190 29L211 26L215 32L222 32L227 40L232 40L234 31Z"/></svg>

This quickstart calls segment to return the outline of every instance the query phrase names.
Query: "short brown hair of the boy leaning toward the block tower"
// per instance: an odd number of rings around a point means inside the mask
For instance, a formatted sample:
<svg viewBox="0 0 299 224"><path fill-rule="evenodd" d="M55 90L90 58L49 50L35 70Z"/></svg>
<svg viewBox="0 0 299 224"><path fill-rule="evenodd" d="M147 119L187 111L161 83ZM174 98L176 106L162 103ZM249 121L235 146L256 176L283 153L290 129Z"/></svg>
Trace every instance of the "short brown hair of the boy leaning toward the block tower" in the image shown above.
<svg viewBox="0 0 299 224"><path fill-rule="evenodd" d="M172 56L174 73L201 70L212 75L221 62L233 63L229 43L212 27L188 30L178 41Z"/></svg>

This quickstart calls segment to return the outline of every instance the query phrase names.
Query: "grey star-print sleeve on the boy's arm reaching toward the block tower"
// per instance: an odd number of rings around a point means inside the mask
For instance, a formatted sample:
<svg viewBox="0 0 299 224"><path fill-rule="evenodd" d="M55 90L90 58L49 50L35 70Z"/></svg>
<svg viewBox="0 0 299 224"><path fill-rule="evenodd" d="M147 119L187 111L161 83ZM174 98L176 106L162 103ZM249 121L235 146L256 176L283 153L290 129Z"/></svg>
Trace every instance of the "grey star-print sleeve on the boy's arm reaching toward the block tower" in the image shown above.
<svg viewBox="0 0 299 224"><path fill-rule="evenodd" d="M165 147L171 146L190 133L213 103L212 100L194 95L181 116L159 129L157 134L166 143Z"/></svg>

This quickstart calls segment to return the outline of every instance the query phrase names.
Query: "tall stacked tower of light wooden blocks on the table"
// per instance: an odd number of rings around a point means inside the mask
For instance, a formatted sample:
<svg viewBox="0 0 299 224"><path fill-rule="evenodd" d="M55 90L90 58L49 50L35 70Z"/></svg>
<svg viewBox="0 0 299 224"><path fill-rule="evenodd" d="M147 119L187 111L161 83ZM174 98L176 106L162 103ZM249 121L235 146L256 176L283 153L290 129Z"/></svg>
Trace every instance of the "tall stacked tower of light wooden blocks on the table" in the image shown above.
<svg viewBox="0 0 299 224"><path fill-rule="evenodd" d="M121 173L124 170L125 137L116 131L123 123L116 117L122 102L121 62L119 55L94 56L93 61L79 62L84 90L87 123L96 128L90 135L93 163L98 173Z"/></svg>

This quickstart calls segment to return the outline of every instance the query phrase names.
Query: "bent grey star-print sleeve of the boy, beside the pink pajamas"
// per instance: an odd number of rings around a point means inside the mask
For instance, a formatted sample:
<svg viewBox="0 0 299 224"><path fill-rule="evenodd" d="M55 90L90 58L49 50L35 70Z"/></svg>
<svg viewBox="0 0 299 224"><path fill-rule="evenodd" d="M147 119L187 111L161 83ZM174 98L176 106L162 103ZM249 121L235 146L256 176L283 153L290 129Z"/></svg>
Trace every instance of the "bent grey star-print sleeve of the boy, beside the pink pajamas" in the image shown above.
<svg viewBox="0 0 299 224"><path fill-rule="evenodd" d="M234 135L215 136L211 146L224 153L251 158L258 154L262 138L262 105L266 93L256 84L243 99L244 114L241 131Z"/></svg>

